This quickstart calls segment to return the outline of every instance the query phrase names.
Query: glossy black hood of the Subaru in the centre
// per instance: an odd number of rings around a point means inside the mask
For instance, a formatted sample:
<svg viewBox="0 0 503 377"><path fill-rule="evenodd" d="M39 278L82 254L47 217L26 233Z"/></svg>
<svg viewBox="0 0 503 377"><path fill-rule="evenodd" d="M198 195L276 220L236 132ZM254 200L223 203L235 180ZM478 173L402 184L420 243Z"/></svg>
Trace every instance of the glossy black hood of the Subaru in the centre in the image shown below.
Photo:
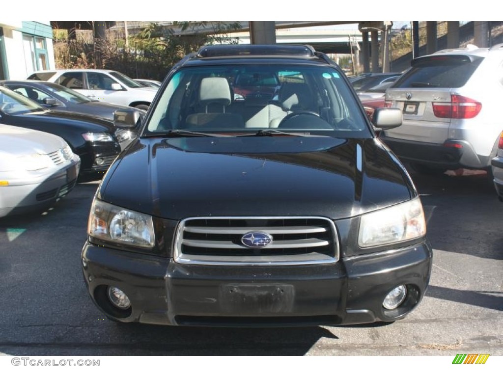
<svg viewBox="0 0 503 377"><path fill-rule="evenodd" d="M377 139L138 139L98 198L180 220L197 216L346 218L417 195Z"/></svg>

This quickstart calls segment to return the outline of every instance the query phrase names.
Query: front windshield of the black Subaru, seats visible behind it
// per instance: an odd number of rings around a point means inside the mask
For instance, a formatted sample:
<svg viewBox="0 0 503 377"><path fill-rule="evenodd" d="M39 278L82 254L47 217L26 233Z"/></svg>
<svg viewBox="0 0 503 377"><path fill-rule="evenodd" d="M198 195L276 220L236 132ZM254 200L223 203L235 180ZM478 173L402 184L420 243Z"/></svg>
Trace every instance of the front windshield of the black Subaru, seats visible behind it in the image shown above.
<svg viewBox="0 0 503 377"><path fill-rule="evenodd" d="M365 115L342 76L329 66L300 64L185 67L171 77L143 135L277 129L370 137Z"/></svg>

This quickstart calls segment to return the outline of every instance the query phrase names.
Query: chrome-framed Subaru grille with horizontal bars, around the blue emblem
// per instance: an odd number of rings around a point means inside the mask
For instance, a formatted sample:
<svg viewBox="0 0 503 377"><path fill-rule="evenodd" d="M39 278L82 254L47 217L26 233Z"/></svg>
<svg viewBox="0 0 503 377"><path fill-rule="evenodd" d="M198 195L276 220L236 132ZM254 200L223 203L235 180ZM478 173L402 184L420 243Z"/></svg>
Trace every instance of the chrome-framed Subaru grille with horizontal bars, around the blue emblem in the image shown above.
<svg viewBox="0 0 503 377"><path fill-rule="evenodd" d="M241 238L262 232L273 241L247 247ZM212 217L183 220L177 229L174 259L188 264L318 264L339 260L337 231L322 217Z"/></svg>

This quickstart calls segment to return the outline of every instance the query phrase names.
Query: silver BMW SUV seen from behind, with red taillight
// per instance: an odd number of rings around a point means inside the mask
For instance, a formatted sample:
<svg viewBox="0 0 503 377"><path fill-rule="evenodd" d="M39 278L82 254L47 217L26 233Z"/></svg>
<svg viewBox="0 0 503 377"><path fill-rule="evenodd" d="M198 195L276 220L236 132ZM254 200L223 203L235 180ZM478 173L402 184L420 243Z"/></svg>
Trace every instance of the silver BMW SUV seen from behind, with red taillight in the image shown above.
<svg viewBox="0 0 503 377"><path fill-rule="evenodd" d="M442 50L412 60L386 90L403 125L383 141L417 171L489 170L501 132L503 44Z"/></svg>

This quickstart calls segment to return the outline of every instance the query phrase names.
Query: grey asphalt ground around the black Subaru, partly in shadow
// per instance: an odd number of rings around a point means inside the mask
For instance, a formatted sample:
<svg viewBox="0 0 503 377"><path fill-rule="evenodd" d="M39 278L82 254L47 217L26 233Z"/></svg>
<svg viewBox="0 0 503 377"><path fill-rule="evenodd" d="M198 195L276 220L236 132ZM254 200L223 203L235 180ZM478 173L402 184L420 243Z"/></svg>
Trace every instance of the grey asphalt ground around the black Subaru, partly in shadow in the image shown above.
<svg viewBox="0 0 503 377"><path fill-rule="evenodd" d="M503 355L503 203L483 175L412 175L434 247L420 306L393 324L278 329L111 322L88 297L81 246L98 182L46 214L0 219L0 354Z"/></svg>

